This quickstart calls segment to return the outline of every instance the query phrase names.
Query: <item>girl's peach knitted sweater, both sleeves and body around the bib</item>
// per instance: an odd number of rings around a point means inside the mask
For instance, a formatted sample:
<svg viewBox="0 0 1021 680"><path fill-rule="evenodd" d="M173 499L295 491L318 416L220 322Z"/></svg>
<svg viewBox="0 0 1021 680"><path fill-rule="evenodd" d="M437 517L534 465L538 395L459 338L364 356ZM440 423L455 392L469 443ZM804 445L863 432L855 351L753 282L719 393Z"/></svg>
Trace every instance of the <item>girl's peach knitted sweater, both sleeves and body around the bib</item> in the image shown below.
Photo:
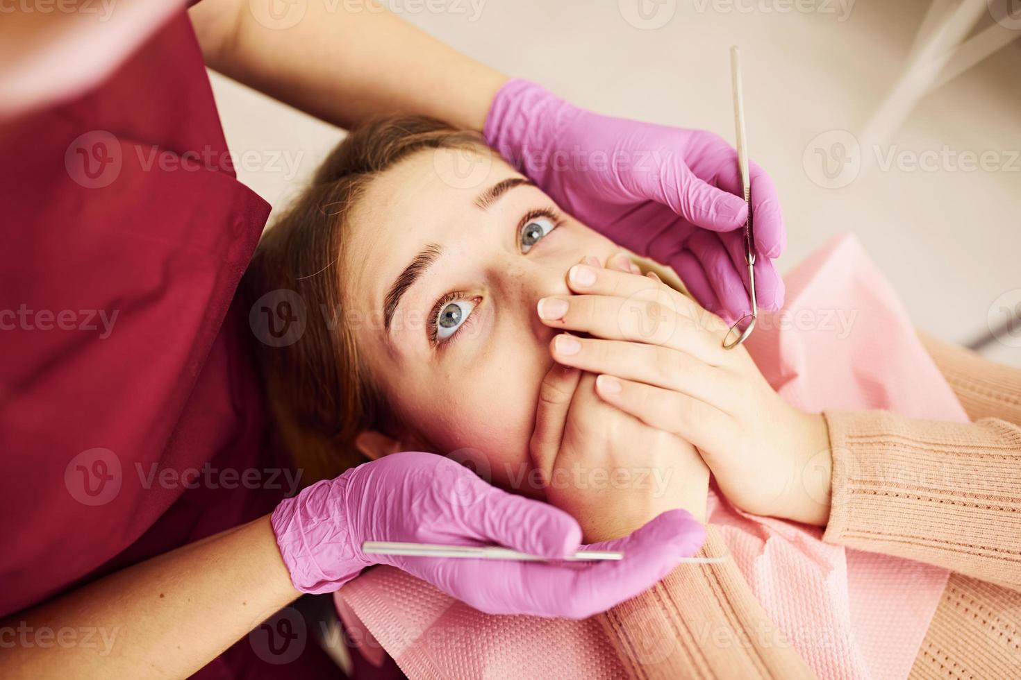
<svg viewBox="0 0 1021 680"><path fill-rule="evenodd" d="M911 677L1021 677L1021 370L923 342L974 422L827 412L823 538L953 570ZM703 553L723 550L711 531ZM630 677L812 675L732 562L678 569L597 618Z"/></svg>

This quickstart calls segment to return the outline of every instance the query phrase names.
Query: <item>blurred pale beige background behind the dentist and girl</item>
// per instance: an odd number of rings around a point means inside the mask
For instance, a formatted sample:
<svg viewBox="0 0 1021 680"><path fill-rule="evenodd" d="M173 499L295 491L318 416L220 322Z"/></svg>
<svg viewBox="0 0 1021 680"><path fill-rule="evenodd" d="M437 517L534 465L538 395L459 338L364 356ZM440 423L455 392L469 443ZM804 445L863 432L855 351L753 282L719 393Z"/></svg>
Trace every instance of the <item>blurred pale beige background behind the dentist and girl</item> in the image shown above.
<svg viewBox="0 0 1021 680"><path fill-rule="evenodd" d="M786 218L781 271L830 236L853 231L925 330L969 343L987 335L990 323L1005 321L1007 310L1021 310L1021 158L1016 155L1021 41L925 94L888 141L873 147L863 130L909 64L925 2L392 0L388 5L456 49L537 81L578 105L706 127L731 141L728 47L737 44L744 54L751 156L776 181ZM636 13L640 6L650 23L662 25L643 28L648 24ZM983 10L971 35L983 30L998 40L1021 37L1021 20L996 24ZM983 51L979 43L966 45L952 67ZM238 171L241 179L279 208L342 132L217 74L212 81L231 149L248 154L250 162ZM826 178L819 154L832 153L834 141L847 139L829 130L849 130L862 149L860 170L841 175L853 177L841 188L820 186ZM944 148L955 155L937 160L934 170L884 168L876 161L890 154L910 161ZM956 155L961 152L991 152L993 169L967 171ZM983 352L1021 365L1021 321Z"/></svg>

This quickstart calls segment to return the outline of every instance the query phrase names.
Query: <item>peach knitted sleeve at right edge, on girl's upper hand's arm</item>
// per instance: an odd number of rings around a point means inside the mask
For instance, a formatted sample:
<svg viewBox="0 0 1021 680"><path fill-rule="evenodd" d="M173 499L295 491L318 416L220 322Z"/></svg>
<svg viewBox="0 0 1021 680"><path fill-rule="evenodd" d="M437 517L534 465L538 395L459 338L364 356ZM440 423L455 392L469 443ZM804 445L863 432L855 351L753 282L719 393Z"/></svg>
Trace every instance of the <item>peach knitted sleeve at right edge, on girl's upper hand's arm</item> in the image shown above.
<svg viewBox="0 0 1021 680"><path fill-rule="evenodd" d="M1021 589L1021 369L924 338L973 423L825 413L824 540Z"/></svg>

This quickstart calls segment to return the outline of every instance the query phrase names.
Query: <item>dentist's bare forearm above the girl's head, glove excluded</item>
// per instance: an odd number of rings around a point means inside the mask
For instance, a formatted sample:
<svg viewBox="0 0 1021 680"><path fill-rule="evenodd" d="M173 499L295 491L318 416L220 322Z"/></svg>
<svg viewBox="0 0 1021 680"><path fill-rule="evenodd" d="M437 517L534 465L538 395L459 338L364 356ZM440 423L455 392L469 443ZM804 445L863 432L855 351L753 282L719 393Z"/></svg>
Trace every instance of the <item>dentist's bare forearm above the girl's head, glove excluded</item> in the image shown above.
<svg viewBox="0 0 1021 680"><path fill-rule="evenodd" d="M302 5L297 22L276 29L248 0L204 0L189 13L210 67L334 124L419 113L482 129L505 75L372 0Z"/></svg>

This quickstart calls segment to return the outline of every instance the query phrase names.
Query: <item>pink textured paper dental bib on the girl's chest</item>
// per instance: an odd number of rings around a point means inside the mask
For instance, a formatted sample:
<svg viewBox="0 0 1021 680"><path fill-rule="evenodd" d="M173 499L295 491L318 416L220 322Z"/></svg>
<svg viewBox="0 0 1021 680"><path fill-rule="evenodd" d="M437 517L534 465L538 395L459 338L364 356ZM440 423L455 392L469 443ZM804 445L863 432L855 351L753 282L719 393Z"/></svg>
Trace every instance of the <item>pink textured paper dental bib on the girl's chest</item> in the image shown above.
<svg viewBox="0 0 1021 680"><path fill-rule="evenodd" d="M761 316L747 347L790 404L967 421L855 238L833 239L785 282L787 304ZM816 675L908 676L945 570L825 543L819 528L748 515L712 492L709 508L756 597ZM486 615L392 567L367 571L335 599L367 656L382 645L412 679L623 675L594 620Z"/></svg>

